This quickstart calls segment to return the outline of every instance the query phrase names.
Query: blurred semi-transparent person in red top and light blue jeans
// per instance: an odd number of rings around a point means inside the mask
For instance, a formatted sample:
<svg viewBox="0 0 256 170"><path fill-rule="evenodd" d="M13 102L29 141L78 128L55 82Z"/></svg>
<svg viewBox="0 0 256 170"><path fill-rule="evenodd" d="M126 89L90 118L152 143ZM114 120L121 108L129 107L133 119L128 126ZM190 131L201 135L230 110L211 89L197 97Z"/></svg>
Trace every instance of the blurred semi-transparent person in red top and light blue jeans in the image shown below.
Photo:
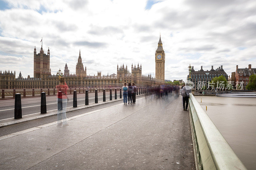
<svg viewBox="0 0 256 170"><path fill-rule="evenodd" d="M57 122L58 125L61 125L63 123L63 126L67 126L67 116L66 116L66 108L68 103L68 85L65 82L65 78L60 78L60 84L56 85L55 87L58 89L57 93L57 103L58 103L58 113L57 113ZM60 93L61 92L61 93ZM62 122L63 120L63 122Z"/></svg>

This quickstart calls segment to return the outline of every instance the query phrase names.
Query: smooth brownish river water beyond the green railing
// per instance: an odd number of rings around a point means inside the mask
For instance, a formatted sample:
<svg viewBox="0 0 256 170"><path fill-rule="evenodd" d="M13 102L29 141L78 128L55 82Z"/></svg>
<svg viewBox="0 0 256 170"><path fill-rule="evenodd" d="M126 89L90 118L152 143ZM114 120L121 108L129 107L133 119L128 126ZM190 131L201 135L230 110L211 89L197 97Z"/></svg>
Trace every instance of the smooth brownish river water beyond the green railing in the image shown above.
<svg viewBox="0 0 256 170"><path fill-rule="evenodd" d="M256 169L256 98L195 97L246 168Z"/></svg>

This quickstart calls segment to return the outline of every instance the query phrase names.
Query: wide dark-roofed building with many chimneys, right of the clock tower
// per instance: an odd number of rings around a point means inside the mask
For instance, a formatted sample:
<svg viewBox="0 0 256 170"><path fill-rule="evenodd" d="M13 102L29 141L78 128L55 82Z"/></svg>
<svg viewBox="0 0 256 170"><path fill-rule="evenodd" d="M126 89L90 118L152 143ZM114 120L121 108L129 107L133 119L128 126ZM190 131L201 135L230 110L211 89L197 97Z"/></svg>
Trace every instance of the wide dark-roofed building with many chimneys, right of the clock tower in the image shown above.
<svg viewBox="0 0 256 170"><path fill-rule="evenodd" d="M189 65L188 73L187 80L194 83L195 90L199 90L200 87L202 88L203 86L207 88L209 82L211 82L215 77L224 76L228 80L228 74L223 70L222 65L215 70L212 65L212 69L206 71L203 70L203 66L201 66L200 70L195 71L194 66Z"/></svg>

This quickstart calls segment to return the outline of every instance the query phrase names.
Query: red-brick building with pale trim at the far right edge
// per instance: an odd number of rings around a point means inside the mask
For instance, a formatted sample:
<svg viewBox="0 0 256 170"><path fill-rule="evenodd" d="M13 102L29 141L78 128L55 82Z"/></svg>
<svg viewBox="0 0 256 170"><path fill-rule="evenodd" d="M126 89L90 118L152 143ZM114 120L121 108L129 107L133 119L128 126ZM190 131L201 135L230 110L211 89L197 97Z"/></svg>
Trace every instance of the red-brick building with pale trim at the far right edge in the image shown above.
<svg viewBox="0 0 256 170"><path fill-rule="evenodd" d="M249 77L255 74L256 74L256 68L252 68L251 64L248 65L248 68L241 68L241 69L238 69L238 65L236 65L234 82L235 84L239 84L239 85L243 84L243 89L245 89L246 85L248 85Z"/></svg>

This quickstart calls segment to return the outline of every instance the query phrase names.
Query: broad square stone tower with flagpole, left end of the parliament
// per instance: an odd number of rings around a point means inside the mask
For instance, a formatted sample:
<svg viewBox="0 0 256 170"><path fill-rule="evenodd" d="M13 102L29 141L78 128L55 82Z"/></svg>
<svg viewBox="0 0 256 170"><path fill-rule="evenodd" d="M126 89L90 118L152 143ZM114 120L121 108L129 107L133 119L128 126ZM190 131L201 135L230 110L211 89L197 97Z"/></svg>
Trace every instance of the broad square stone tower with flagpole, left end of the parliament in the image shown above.
<svg viewBox="0 0 256 170"><path fill-rule="evenodd" d="M50 72L50 49L47 55L44 53L43 45L40 53L36 54L36 46L34 48L34 78L46 78L51 75Z"/></svg>

